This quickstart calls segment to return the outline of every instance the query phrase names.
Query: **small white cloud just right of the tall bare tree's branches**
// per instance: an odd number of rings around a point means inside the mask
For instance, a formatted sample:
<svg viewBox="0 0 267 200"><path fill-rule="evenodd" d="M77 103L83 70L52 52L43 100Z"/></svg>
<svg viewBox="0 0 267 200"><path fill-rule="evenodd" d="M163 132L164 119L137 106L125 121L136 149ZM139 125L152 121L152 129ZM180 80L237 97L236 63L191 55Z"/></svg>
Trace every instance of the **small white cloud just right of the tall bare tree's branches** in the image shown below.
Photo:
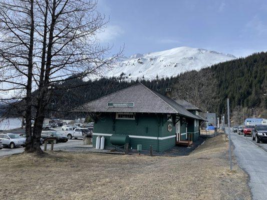
<svg viewBox="0 0 267 200"><path fill-rule="evenodd" d="M97 34L97 38L100 40L100 42L109 42L123 33L124 30L120 26L108 25L104 31L101 31Z"/></svg>

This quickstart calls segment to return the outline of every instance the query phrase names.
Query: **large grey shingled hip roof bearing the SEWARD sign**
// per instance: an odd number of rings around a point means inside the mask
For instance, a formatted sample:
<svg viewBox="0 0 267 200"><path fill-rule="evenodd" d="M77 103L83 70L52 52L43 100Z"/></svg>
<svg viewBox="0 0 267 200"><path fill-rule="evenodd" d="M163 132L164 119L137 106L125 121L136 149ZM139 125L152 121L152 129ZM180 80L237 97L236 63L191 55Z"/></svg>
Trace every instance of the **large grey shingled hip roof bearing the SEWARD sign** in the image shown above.
<svg viewBox="0 0 267 200"><path fill-rule="evenodd" d="M108 103L128 103L129 105L133 104L133 106L113 106L114 104L108 105ZM75 108L73 111L169 113L181 114L190 118L203 120L202 117L186 110L173 99L146 87L142 83L88 102Z"/></svg>

